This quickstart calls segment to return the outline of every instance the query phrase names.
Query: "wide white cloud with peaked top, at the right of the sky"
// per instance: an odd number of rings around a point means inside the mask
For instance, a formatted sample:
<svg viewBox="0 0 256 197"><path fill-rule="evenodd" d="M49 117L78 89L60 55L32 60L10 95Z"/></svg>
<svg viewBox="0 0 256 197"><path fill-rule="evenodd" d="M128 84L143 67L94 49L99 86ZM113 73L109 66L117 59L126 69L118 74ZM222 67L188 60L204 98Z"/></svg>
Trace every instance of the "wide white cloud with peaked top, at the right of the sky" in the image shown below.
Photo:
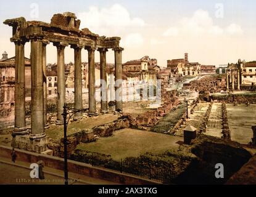
<svg viewBox="0 0 256 197"><path fill-rule="evenodd" d="M178 25L171 26L164 33L163 36L177 36L184 34L189 36L201 35L223 35L223 34L242 34L241 26L232 23L226 28L221 28L213 23L212 17L206 10L196 10L191 18L183 18Z"/></svg>

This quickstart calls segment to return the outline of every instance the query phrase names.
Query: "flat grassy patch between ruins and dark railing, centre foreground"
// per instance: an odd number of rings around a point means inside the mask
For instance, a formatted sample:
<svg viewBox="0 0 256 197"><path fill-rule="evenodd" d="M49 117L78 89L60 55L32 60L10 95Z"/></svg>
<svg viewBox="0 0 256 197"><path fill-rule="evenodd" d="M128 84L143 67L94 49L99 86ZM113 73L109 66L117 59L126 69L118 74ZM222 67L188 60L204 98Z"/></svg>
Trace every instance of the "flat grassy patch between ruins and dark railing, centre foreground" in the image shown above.
<svg viewBox="0 0 256 197"><path fill-rule="evenodd" d="M76 149L105 155L114 159L137 157L146 152L163 153L170 148L178 148L181 137L156 134L136 129L122 129L114 132L112 137L101 137L97 142L80 143Z"/></svg>

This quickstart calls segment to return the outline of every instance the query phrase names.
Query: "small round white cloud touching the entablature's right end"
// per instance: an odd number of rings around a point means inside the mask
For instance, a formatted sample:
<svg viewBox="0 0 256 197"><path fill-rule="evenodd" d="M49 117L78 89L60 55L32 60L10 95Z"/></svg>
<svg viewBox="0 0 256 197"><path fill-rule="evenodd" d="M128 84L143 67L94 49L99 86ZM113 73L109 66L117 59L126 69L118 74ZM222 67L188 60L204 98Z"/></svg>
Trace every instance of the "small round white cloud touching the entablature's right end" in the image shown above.
<svg viewBox="0 0 256 197"><path fill-rule="evenodd" d="M138 48L144 44L144 39L139 33L131 33L125 36L120 42L123 47Z"/></svg>

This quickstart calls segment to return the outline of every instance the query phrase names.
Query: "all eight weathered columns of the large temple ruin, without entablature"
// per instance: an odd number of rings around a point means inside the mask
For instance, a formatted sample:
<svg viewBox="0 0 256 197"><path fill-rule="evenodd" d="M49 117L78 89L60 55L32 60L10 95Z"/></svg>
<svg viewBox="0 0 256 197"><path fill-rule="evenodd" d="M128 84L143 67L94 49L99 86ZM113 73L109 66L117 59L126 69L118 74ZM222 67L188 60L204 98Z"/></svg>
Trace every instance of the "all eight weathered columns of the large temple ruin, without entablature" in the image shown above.
<svg viewBox="0 0 256 197"><path fill-rule="evenodd" d="M46 87L46 46L49 41L41 37L31 38L31 134L30 139L45 137L44 128L47 127L47 87ZM25 123L25 41L15 42L15 130L14 135L28 134ZM65 103L65 57L64 49L68 46L64 42L55 42L57 47L57 124L63 124L63 107ZM82 110L82 73L81 49L83 46L72 45L75 57L75 109ZM95 66L94 47L86 47L89 62L89 116L97 115L95 98ZM122 111L122 50L117 47L115 51L115 110ZM99 49L101 57L101 79L107 81L106 52ZM114 89L114 76L110 79ZM107 87L102 86L101 111L107 113ZM113 97L114 92L111 97ZM114 100L114 98L111 98ZM75 119L82 117L82 112L75 114Z"/></svg>

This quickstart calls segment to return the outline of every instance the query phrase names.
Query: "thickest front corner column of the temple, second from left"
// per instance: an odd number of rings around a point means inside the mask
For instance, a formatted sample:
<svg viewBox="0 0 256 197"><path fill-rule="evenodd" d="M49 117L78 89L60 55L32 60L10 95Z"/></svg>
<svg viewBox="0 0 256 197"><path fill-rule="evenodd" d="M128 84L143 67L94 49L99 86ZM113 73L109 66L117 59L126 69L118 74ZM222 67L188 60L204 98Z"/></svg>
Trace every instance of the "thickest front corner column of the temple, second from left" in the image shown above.
<svg viewBox="0 0 256 197"><path fill-rule="evenodd" d="M44 133L43 41L31 39L31 135L41 139Z"/></svg>

